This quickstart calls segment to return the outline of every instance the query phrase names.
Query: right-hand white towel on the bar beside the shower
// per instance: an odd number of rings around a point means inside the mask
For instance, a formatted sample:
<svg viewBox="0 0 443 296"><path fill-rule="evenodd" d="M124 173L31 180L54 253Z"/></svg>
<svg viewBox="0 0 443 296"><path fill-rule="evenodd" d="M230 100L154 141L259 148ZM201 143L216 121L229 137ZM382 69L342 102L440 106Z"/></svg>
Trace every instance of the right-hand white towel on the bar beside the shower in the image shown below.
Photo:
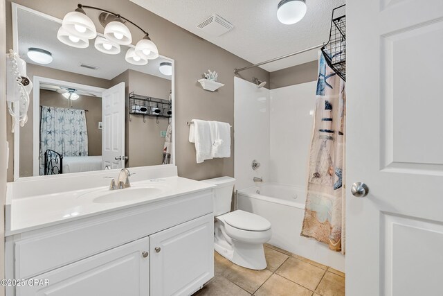
<svg viewBox="0 0 443 296"><path fill-rule="evenodd" d="M211 156L230 157L230 125L226 122L209 121L212 139Z"/></svg>

